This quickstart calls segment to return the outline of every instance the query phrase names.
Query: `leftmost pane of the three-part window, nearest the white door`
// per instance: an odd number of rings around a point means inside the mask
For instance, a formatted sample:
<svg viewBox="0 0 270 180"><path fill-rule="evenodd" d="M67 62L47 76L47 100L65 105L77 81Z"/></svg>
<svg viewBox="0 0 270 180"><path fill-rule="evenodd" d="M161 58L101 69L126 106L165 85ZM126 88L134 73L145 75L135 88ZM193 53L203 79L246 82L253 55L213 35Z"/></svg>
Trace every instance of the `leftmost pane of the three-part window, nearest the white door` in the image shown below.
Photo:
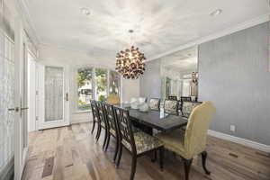
<svg viewBox="0 0 270 180"><path fill-rule="evenodd" d="M93 99L93 68L79 68L77 82L77 110L90 110L90 100Z"/></svg>

